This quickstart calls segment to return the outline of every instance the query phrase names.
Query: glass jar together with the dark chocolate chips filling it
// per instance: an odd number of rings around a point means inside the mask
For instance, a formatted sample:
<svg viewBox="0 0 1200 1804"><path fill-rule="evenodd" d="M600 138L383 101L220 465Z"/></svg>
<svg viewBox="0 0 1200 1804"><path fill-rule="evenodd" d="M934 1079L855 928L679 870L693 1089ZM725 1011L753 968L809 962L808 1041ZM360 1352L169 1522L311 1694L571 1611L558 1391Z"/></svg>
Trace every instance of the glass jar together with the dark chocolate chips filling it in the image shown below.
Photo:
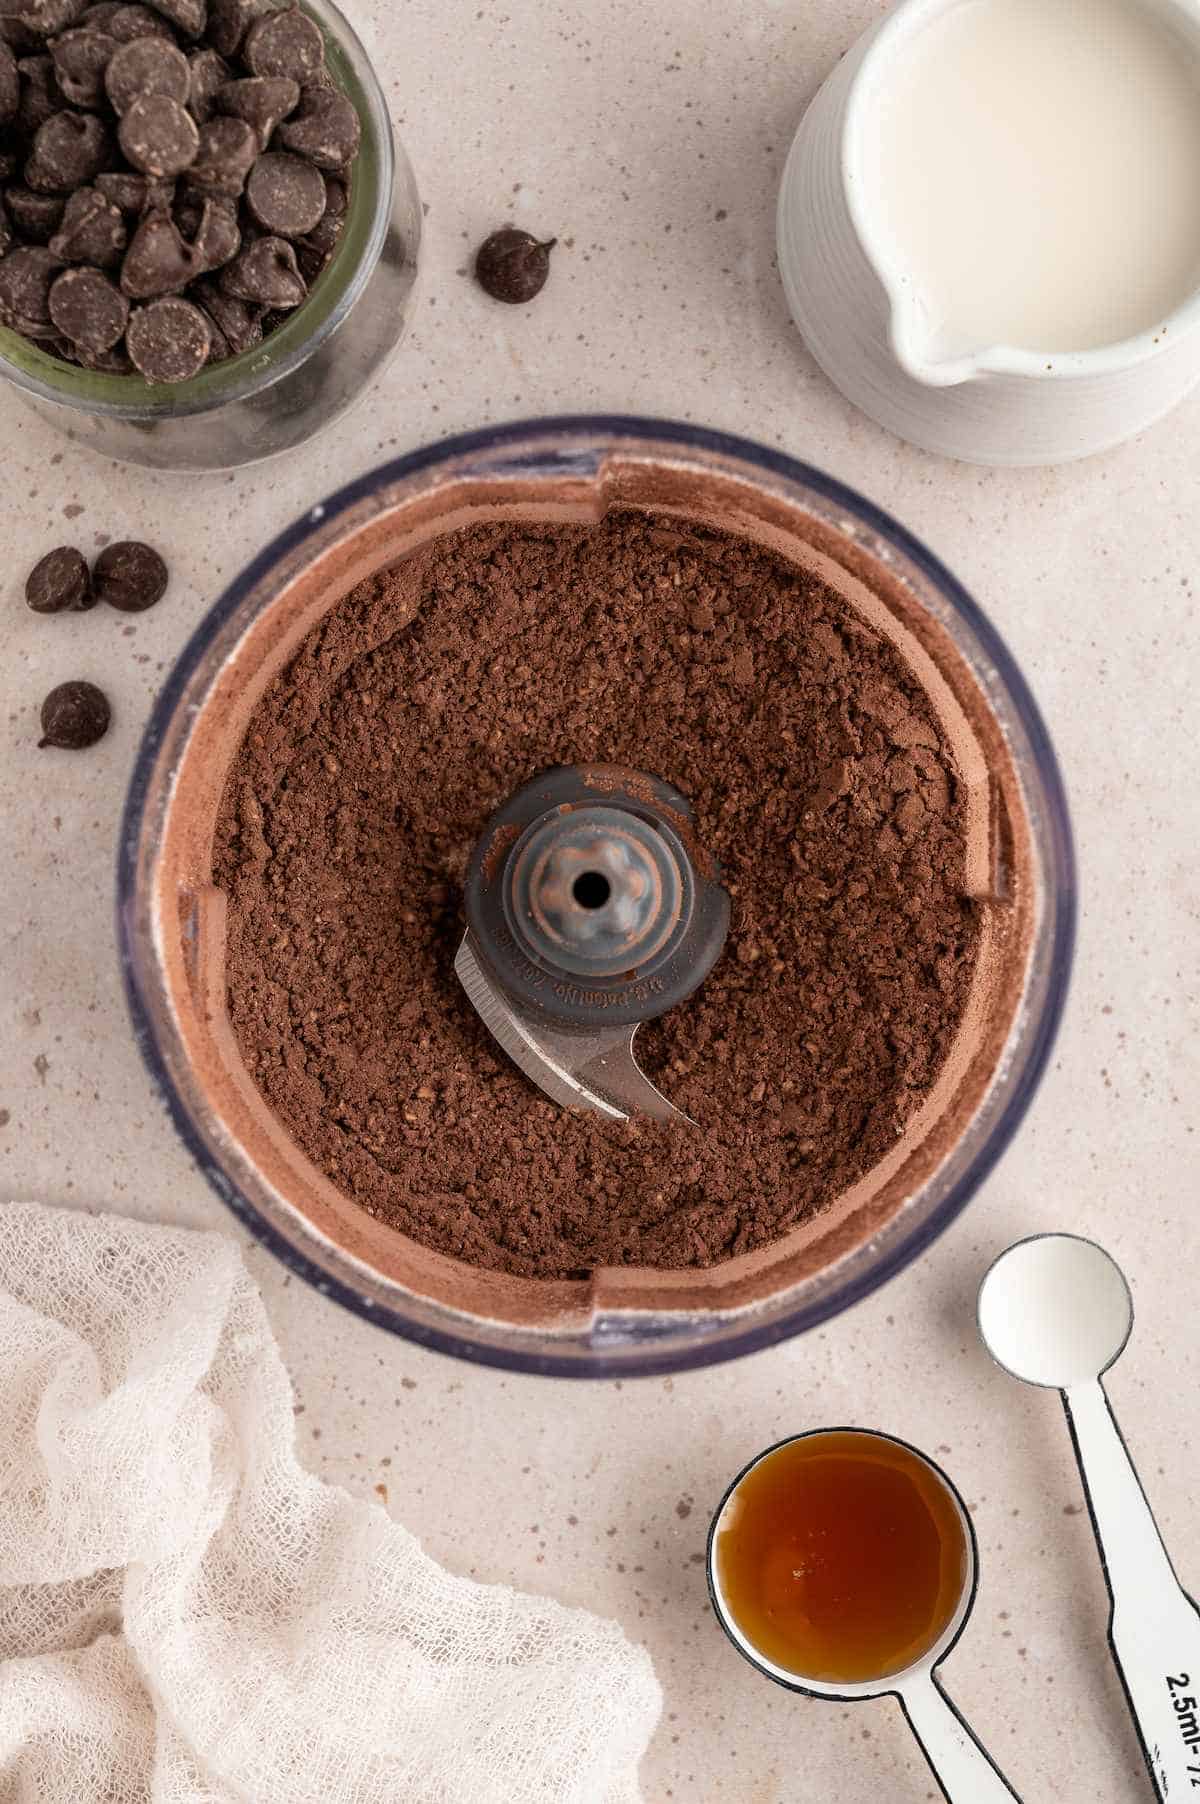
<svg viewBox="0 0 1200 1804"><path fill-rule="evenodd" d="M379 375L420 202L330 0L0 0L0 373L157 469L287 451Z"/></svg>

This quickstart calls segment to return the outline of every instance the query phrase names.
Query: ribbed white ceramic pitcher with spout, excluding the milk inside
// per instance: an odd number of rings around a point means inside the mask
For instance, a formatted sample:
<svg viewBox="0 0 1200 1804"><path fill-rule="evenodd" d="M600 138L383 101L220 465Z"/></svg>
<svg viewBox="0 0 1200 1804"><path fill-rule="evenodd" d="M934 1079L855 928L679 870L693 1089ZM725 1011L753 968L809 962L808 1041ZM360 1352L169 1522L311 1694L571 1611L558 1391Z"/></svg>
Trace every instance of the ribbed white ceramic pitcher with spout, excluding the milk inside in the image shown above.
<svg viewBox="0 0 1200 1804"><path fill-rule="evenodd" d="M1009 346L942 361L926 350L911 294L886 274L879 204L863 168L864 108L906 40L960 4L900 0L819 90L783 173L780 272L808 350L881 426L967 462L1059 464L1142 431L1200 381L1200 292L1166 330L1052 361ZM1142 4L1195 40L1200 105L1200 7Z"/></svg>

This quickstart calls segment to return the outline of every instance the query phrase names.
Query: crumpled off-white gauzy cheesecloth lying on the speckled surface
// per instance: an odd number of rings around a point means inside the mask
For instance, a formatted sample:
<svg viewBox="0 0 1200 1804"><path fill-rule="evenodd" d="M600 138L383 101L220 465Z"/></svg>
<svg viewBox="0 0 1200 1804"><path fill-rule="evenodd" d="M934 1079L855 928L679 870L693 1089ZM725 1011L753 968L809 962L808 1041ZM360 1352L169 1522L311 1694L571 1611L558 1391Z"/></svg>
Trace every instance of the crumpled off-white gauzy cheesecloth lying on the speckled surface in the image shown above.
<svg viewBox="0 0 1200 1804"><path fill-rule="evenodd" d="M0 1207L2 1804L635 1804L648 1654L292 1443L231 1241Z"/></svg>

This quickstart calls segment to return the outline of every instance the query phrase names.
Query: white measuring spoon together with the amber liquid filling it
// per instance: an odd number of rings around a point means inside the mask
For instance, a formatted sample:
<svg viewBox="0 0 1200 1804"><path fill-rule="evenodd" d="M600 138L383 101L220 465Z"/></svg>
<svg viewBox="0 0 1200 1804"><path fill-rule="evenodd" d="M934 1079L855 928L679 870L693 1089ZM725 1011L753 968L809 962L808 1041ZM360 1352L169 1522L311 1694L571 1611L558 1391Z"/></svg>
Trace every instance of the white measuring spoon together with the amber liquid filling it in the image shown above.
<svg viewBox="0 0 1200 1804"><path fill-rule="evenodd" d="M971 1615L976 1569L967 1506L942 1468L868 1429L769 1447L709 1530L713 1609L751 1665L810 1698L897 1698L951 1804L1014 1804L937 1671Z"/></svg>

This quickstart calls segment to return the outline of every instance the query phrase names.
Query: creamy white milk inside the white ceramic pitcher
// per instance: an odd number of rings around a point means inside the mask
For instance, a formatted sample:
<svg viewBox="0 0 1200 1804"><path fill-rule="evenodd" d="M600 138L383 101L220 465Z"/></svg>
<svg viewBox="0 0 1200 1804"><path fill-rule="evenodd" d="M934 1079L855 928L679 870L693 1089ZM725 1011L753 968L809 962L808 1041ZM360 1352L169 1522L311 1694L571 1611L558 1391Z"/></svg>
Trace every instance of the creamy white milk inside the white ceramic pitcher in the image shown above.
<svg viewBox="0 0 1200 1804"><path fill-rule="evenodd" d="M1198 32L1166 0L965 0L877 65L859 175L902 363L1115 345L1200 285Z"/></svg>

